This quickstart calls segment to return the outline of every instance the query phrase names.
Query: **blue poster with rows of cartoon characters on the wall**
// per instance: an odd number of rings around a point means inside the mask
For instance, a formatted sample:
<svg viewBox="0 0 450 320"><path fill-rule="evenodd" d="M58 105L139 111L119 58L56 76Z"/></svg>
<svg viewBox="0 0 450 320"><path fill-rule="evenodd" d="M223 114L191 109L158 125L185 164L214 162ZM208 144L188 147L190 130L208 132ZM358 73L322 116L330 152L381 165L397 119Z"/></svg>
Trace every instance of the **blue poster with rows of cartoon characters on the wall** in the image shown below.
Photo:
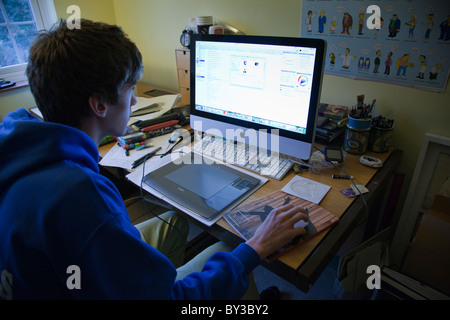
<svg viewBox="0 0 450 320"><path fill-rule="evenodd" d="M450 0L303 0L301 21L327 41L327 74L445 91Z"/></svg>

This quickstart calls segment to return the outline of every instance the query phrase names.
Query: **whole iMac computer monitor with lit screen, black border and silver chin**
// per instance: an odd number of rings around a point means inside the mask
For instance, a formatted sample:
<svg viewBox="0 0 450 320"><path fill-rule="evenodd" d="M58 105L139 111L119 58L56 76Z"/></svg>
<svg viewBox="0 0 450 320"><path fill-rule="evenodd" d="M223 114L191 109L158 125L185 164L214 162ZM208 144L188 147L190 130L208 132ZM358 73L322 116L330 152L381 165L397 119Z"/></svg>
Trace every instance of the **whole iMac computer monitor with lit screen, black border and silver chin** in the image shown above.
<svg viewBox="0 0 450 320"><path fill-rule="evenodd" d="M191 127L223 137L235 130L236 140L250 144L245 135L254 130L259 147L308 159L325 46L318 39L194 35Z"/></svg>

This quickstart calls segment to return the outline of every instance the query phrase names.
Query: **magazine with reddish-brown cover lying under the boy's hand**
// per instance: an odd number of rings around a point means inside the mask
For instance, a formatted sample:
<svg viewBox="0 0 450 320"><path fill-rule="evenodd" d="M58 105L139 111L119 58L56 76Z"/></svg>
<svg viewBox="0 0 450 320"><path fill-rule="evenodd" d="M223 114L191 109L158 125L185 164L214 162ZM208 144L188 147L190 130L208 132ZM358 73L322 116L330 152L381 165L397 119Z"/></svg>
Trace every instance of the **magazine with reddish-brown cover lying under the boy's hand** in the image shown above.
<svg viewBox="0 0 450 320"><path fill-rule="evenodd" d="M309 217L309 223L305 226L306 234L294 238L283 248L271 254L267 258L269 262L278 259L339 221L338 217L319 205L281 190L226 212L223 217L241 237L249 240L273 209L288 203L305 209Z"/></svg>

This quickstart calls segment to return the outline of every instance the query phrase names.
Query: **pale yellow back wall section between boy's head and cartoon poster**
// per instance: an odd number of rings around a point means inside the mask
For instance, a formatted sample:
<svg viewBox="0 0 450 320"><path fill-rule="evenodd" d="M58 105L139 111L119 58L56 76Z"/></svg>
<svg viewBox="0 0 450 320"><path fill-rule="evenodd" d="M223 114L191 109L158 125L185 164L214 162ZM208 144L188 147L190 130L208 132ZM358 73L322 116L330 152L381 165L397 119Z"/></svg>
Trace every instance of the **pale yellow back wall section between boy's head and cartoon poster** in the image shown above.
<svg viewBox="0 0 450 320"><path fill-rule="evenodd" d="M178 89L174 49L181 47L190 17L212 15L256 35L298 36L300 23L300 2L292 0L114 0L114 9L117 24L142 51L144 81L173 90Z"/></svg>

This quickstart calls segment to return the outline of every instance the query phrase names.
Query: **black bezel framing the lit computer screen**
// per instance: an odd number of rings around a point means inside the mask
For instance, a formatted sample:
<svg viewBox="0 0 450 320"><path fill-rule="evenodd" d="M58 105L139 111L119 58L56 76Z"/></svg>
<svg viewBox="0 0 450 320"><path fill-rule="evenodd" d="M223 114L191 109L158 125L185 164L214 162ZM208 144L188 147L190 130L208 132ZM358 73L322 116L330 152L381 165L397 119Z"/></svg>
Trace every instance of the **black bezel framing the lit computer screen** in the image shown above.
<svg viewBox="0 0 450 320"><path fill-rule="evenodd" d="M216 114L211 114L201 110L195 109L195 60L196 60L196 43L198 41L215 41L215 42L231 42L231 43L254 43L254 44L269 44L282 45L292 47L308 47L316 49L315 64L313 71L313 81L311 89L311 99L309 103L308 120L306 126L306 133L301 134L284 129L277 129L268 127L266 125L251 123L241 119L224 117ZM318 114L318 105L320 100L321 85L324 70L324 61L326 53L326 42L322 39L313 38L293 38L293 37L274 37L274 36L248 36L248 35L192 35L190 46L190 113L191 115L207 118L215 121L229 123L242 128L252 128L255 130L263 129L277 129L279 135L289 139L300 140L307 143L313 143L315 134L315 124Z"/></svg>

